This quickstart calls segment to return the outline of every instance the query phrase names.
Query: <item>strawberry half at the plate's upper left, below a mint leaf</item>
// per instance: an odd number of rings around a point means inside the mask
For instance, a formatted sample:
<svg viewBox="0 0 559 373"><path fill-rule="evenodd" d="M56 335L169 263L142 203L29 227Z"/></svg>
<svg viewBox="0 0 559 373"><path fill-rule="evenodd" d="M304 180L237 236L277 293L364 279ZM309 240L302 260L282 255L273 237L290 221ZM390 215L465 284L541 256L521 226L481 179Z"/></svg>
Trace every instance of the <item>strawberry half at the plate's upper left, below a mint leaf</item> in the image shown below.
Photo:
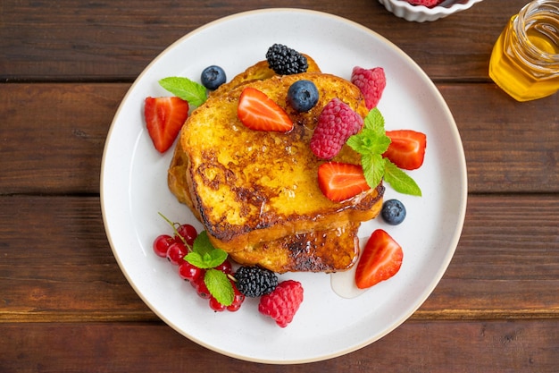
<svg viewBox="0 0 559 373"><path fill-rule="evenodd" d="M188 102L179 97L146 97L144 116L154 147L164 153L187 120Z"/></svg>

